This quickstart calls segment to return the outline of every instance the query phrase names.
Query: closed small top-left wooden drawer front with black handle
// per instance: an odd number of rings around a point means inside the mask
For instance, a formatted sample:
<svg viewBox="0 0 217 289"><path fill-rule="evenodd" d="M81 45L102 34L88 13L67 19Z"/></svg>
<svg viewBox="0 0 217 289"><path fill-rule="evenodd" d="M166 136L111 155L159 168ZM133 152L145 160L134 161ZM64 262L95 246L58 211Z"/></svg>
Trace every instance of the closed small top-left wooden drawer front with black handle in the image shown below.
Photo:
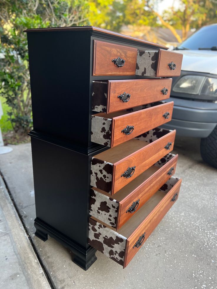
<svg viewBox="0 0 217 289"><path fill-rule="evenodd" d="M93 40L93 75L135 75L136 61L136 48Z"/></svg>

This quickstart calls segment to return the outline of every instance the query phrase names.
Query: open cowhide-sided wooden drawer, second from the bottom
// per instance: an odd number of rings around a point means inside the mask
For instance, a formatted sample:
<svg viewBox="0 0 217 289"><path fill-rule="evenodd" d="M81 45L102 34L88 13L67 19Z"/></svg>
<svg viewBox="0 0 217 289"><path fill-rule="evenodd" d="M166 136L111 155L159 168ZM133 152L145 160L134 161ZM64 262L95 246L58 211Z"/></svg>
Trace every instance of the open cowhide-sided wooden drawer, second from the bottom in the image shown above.
<svg viewBox="0 0 217 289"><path fill-rule="evenodd" d="M90 215L120 229L175 173L178 155L167 154L112 197L91 188Z"/></svg>

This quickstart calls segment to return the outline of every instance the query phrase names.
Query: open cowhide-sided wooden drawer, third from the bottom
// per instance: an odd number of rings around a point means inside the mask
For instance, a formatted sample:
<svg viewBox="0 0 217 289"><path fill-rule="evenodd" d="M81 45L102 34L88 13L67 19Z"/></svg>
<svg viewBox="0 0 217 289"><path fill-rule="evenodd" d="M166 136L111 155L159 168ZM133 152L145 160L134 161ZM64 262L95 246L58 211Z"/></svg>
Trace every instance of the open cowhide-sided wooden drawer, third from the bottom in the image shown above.
<svg viewBox="0 0 217 289"><path fill-rule="evenodd" d="M176 131L155 128L92 157L91 186L115 194L172 151Z"/></svg>

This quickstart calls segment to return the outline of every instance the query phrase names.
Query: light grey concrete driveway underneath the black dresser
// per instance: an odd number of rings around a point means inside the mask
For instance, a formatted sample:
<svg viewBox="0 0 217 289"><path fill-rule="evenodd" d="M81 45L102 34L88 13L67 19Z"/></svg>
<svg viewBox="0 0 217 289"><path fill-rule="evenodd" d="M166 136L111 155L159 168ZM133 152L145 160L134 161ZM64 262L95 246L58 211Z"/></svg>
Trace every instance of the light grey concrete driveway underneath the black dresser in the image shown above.
<svg viewBox="0 0 217 289"><path fill-rule="evenodd" d="M174 152L179 154L175 176L183 179L177 203L125 269L97 252L98 260L86 272L71 261L71 252L54 239L42 242L34 236L30 144L13 146L12 153L0 157L4 181L30 236L29 244L37 255L36 262L40 262L43 278L47 278L51 288L217 288L217 170L203 163L198 139L177 137ZM24 254L30 258L32 253ZM4 265L6 260L1 262ZM28 268L25 270L29 272ZM11 287L11 276L12 271L4 289L15 288Z"/></svg>

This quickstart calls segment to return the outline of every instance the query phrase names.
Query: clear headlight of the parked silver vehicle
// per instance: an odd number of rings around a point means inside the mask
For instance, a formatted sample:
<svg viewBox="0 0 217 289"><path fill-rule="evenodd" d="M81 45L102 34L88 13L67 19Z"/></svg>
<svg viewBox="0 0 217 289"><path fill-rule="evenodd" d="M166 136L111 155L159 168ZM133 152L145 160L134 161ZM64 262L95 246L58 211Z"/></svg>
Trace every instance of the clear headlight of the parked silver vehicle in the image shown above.
<svg viewBox="0 0 217 289"><path fill-rule="evenodd" d="M217 78L201 75L185 75L173 87L179 93L217 96Z"/></svg>

